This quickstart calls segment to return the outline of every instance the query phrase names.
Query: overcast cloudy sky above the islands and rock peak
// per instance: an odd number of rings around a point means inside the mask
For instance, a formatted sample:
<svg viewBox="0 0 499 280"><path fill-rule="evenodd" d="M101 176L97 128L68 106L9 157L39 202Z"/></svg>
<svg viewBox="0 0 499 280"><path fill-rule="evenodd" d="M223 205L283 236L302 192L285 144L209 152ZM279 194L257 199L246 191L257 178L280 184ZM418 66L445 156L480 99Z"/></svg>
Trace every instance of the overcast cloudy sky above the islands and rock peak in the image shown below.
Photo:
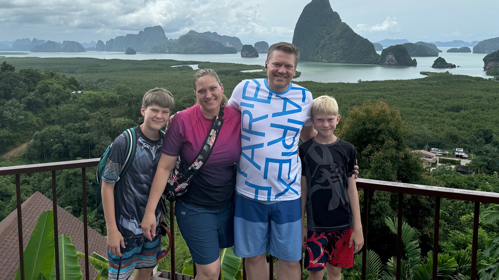
<svg viewBox="0 0 499 280"><path fill-rule="evenodd" d="M80 43L161 25L168 38L189 30L237 36L243 43L292 41L309 0L0 0L0 41ZM499 36L497 0L330 0L334 11L374 41L484 40Z"/></svg>

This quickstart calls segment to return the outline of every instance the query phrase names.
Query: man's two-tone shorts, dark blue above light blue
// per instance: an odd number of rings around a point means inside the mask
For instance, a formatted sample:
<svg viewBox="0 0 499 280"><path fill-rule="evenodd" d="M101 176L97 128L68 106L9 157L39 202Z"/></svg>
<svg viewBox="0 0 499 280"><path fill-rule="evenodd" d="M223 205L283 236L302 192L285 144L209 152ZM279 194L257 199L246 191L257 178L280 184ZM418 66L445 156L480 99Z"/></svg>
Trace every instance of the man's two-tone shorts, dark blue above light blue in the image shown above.
<svg viewBox="0 0 499 280"><path fill-rule="evenodd" d="M236 193L234 253L241 258L269 253L301 260L301 198L259 201Z"/></svg>

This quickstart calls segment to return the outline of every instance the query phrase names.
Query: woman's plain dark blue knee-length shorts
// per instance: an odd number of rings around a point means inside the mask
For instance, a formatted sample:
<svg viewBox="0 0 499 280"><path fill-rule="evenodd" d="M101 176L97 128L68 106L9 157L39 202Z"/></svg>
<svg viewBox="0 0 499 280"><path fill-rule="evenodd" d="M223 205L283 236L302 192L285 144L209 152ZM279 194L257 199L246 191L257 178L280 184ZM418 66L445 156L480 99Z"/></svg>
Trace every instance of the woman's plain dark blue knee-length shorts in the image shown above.
<svg viewBox="0 0 499 280"><path fill-rule="evenodd" d="M220 257L219 248L234 246L233 202L219 210L208 210L177 200L175 216L196 264L214 263Z"/></svg>

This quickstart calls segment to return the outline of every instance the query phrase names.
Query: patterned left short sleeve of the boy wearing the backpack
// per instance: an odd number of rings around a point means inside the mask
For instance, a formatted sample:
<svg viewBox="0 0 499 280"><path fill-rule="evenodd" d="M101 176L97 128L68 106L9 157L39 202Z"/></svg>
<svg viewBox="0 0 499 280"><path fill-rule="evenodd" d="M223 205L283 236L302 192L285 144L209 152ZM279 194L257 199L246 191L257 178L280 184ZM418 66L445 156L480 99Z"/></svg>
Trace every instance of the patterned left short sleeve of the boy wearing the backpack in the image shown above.
<svg viewBox="0 0 499 280"><path fill-rule="evenodd" d="M126 139L123 134L118 136L107 154L107 162L102 173L102 180L116 183L120 178L121 169L125 163Z"/></svg>

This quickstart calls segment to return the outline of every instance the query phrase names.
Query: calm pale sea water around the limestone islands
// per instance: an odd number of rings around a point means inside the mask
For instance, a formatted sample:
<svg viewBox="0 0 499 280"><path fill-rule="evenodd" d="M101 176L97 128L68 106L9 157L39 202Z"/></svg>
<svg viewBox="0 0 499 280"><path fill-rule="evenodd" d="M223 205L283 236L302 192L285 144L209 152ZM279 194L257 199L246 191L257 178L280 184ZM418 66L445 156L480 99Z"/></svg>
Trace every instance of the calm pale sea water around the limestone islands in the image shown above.
<svg viewBox="0 0 499 280"><path fill-rule="evenodd" d="M301 76L296 81L316 81L316 82L344 82L356 83L358 80L406 80L423 78L421 71L445 72L453 74L469 75L490 78L483 69L483 58L485 53L451 53L446 52L451 47L439 47L443 52L439 56L445 58L447 62L459 65L459 68L436 69L431 68L437 57L413 57L418 61L418 66L382 66L368 64L345 64L345 63L321 63L300 61L297 70ZM265 54L260 57L241 57L237 54L162 54L162 53L137 53L135 55L126 55L123 52L109 51L87 51L82 53L53 53L53 52L26 52L27 55L7 55L12 57L94 57L101 59L175 59L175 60L195 60L212 62L232 62L244 64L264 65ZM378 51L380 54L381 51Z"/></svg>

